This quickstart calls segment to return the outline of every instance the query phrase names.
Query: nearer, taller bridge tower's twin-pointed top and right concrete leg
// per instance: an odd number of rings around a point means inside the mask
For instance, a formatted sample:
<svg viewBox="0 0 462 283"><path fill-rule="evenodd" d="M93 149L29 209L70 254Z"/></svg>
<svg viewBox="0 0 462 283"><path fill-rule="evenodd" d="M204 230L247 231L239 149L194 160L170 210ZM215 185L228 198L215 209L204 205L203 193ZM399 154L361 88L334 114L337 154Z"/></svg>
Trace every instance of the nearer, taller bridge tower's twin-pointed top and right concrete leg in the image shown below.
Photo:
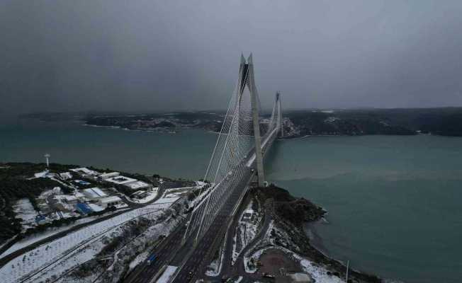
<svg viewBox="0 0 462 283"><path fill-rule="evenodd" d="M242 97L244 88L249 89L251 104L252 104L252 120L254 125L254 137L255 137L255 157L257 163L257 177L259 187L264 187L264 171L263 171L263 155L261 154L261 135L260 135L260 122L259 122L259 103L257 86L254 78L254 63L252 62L252 53L247 58L247 62L244 56L241 54L241 64L239 68L239 97Z"/></svg>

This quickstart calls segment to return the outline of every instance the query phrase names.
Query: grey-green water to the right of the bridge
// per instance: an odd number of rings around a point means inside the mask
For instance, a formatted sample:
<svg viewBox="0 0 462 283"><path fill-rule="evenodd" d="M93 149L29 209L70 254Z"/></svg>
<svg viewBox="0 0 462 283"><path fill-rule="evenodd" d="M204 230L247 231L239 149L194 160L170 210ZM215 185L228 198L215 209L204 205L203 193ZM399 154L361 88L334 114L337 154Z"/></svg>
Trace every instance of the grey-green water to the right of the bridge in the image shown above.
<svg viewBox="0 0 462 283"><path fill-rule="evenodd" d="M266 178L321 204L320 247L405 282L462 282L462 139L312 137L283 141Z"/></svg>

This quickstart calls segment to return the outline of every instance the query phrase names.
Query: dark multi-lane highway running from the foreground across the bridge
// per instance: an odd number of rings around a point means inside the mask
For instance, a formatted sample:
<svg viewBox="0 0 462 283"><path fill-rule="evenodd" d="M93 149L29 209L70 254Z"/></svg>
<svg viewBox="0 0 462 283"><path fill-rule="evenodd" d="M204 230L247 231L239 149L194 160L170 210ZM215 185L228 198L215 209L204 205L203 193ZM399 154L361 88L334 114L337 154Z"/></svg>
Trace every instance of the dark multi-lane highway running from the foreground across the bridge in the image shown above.
<svg viewBox="0 0 462 283"><path fill-rule="evenodd" d="M262 151L266 154L269 146L273 144L278 133L277 128L264 136L262 141ZM247 154L241 163L246 163L244 174L240 178L237 185L232 190L230 197L223 204L220 212L215 216L212 224L204 236L194 246L194 237L186 238L186 242L182 245L184 233L186 231L186 220L170 233L167 238L162 241L156 248L152 250L151 255L155 256L154 262L150 265L147 262L142 262L138 265L123 282L128 283L154 283L155 280L162 274L163 267L166 265L174 265L179 267L176 276L172 282L183 283L193 282L195 279L203 277L205 267L210 264L215 251L222 244L222 239L225 237L228 224L232 221L233 214L239 207L244 192L247 190L252 177L254 176L255 153L254 149ZM231 175L230 178L237 178ZM203 204L202 204L203 205ZM187 218L187 217L186 217ZM193 219L190 219L191 223ZM196 231L191 231L190 235L196 235Z"/></svg>

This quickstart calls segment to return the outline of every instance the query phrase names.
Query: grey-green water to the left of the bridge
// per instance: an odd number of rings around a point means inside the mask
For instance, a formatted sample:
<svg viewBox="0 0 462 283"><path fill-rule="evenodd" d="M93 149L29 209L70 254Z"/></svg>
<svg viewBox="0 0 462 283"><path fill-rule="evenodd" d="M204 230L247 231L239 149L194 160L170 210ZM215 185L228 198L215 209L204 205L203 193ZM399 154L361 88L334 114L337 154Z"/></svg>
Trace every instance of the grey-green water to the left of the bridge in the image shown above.
<svg viewBox="0 0 462 283"><path fill-rule="evenodd" d="M44 162L50 153L50 162L197 180L215 139L201 130L162 134L28 120L0 127L0 161Z"/></svg>

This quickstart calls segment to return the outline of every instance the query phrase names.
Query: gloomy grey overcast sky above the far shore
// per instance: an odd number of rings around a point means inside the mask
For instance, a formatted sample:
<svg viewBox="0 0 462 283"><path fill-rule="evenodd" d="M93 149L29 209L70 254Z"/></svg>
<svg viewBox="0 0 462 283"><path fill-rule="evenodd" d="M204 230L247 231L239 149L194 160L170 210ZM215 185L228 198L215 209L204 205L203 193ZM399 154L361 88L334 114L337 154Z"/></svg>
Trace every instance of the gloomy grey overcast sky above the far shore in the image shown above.
<svg viewBox="0 0 462 283"><path fill-rule="evenodd" d="M0 112L462 105L462 1L0 1Z"/></svg>

